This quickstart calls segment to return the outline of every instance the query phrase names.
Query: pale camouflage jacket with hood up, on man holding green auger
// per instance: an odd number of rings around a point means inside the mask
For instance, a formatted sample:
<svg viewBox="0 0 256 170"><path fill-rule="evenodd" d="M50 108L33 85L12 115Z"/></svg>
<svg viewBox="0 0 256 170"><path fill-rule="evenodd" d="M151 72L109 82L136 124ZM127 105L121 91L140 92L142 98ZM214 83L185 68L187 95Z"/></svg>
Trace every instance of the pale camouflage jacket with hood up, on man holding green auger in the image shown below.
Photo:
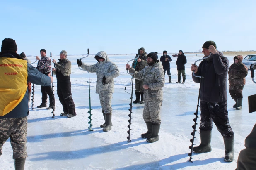
<svg viewBox="0 0 256 170"><path fill-rule="evenodd" d="M96 93L114 93L114 78L119 76L119 69L116 64L109 60L106 52L101 51L98 52L96 55L104 58L105 61L98 61L94 65L86 65L85 63L82 63L81 68L89 71L90 73L96 73ZM102 79L104 76L106 77L105 84L102 83Z"/></svg>

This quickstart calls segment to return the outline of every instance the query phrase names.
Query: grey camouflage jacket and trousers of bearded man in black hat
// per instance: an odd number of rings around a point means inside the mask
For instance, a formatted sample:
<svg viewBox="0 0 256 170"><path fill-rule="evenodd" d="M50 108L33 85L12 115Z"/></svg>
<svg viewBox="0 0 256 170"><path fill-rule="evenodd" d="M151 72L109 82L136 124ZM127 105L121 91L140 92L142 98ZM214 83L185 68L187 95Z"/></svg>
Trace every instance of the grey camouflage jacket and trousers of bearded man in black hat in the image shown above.
<svg viewBox="0 0 256 170"><path fill-rule="evenodd" d="M152 122L160 124L160 106L163 100L162 87L164 87L164 70L162 64L157 61L152 66L146 66L140 72L135 71L134 68L131 68L129 72L133 73L135 79L142 80L143 85L146 84L149 86L149 89L144 89L145 106L143 119L145 123Z"/></svg>

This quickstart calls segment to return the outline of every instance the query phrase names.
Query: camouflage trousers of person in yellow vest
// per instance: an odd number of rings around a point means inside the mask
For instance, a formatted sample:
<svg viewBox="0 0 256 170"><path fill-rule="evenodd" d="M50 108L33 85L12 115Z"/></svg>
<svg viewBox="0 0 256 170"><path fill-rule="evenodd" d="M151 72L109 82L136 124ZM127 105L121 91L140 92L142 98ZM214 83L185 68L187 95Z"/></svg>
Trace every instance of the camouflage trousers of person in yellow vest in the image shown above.
<svg viewBox="0 0 256 170"><path fill-rule="evenodd" d="M25 118L4 118L0 119L0 156L2 155L2 146L11 138L13 150L12 158L27 157L27 117Z"/></svg>

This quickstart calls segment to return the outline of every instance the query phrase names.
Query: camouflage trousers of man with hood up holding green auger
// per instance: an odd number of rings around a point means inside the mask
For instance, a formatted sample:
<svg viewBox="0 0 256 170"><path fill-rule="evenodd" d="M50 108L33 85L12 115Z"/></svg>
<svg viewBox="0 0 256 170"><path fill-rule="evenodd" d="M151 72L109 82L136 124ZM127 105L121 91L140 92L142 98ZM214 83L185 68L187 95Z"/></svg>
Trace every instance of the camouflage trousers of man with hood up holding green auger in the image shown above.
<svg viewBox="0 0 256 170"><path fill-rule="evenodd" d="M99 101L105 114L112 113L111 99L113 93L99 93Z"/></svg>

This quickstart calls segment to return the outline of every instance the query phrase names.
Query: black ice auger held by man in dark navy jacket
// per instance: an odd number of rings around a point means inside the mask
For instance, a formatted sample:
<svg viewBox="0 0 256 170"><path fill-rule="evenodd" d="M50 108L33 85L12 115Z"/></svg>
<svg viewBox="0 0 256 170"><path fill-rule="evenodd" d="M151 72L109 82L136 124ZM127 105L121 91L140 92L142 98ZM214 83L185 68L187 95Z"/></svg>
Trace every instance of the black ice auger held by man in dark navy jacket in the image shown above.
<svg viewBox="0 0 256 170"><path fill-rule="evenodd" d="M209 58L210 56L211 56L211 53L210 53L210 55L209 55L208 57L204 57L204 58L202 58L202 59L196 60L195 63L194 63L194 65L196 65L196 62L201 61L201 60L203 60L203 59L207 59L207 58ZM193 118L194 125L192 126L192 128L193 128L193 132L191 133L192 139L190 139L190 142L191 142L192 144L191 144L191 146L189 146L190 153L188 153L188 156L189 156L189 160L188 160L188 161L189 161L189 162L193 162L193 161L191 161L191 159L193 159L193 158L192 158L192 152L193 152L193 146L195 145L195 144L194 144L194 139L196 138L196 137L195 137L195 132L197 131L197 130L196 130L196 125L198 125L198 123L196 123L196 121L197 121L197 118L199 118L199 116L198 116L198 109L199 109L201 82L202 82L202 78L204 78L203 76L196 76L196 75L195 75L195 71L193 71L193 76L200 78L200 87L199 87L199 94L198 94L198 101L197 101L197 106L196 106L196 112L194 113L194 115L196 116L196 118Z"/></svg>

